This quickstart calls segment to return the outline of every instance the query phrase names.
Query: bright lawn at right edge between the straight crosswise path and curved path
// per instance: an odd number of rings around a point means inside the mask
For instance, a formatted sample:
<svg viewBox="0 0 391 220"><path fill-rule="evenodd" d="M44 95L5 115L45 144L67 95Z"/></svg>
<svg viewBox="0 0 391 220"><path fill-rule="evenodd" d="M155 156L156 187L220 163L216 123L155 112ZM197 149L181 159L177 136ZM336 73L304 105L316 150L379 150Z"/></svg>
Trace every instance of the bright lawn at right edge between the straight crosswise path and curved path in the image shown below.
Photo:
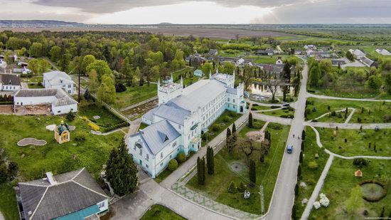
<svg viewBox="0 0 391 220"><path fill-rule="evenodd" d="M336 137L330 128L317 128L321 135L323 147L333 153L343 156L367 155L367 156L390 156L391 130L350 130L339 129ZM346 142L345 142L346 139ZM369 143L371 146L369 148ZM376 143L376 149L374 145ZM375 151L376 150L376 151Z"/></svg>

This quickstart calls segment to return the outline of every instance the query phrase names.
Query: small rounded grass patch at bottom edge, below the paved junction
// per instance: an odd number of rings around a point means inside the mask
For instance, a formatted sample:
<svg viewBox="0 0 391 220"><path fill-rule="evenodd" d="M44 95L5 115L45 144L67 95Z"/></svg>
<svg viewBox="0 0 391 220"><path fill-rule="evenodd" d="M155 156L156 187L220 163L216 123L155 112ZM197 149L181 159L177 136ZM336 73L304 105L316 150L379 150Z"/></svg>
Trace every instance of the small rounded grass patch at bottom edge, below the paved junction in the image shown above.
<svg viewBox="0 0 391 220"><path fill-rule="evenodd" d="M152 205L151 208L146 211L144 216L140 220L181 220L185 219L182 216L176 214L171 209L168 209L166 206L159 204Z"/></svg>

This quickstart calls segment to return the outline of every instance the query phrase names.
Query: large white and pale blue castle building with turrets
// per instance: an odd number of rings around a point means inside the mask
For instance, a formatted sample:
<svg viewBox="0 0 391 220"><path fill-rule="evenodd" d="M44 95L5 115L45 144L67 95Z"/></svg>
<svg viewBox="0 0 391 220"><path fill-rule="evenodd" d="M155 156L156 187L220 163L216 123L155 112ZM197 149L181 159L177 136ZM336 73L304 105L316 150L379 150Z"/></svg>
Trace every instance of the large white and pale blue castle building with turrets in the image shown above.
<svg viewBox="0 0 391 220"><path fill-rule="evenodd" d="M171 80L158 82L159 106L142 117L149 125L144 130L130 135L129 154L151 177L162 172L171 159L180 152L186 155L201 147L201 133L225 110L244 113L244 86L234 88L233 75L216 73L209 79L198 80L183 88Z"/></svg>

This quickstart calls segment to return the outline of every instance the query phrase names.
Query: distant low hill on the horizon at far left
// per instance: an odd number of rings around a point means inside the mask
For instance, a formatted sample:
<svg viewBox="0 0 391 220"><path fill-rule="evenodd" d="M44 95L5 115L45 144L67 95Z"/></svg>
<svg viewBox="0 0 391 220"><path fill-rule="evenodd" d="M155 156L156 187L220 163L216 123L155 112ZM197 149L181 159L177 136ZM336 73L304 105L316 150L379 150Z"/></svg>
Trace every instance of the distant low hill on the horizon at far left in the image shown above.
<svg viewBox="0 0 391 220"><path fill-rule="evenodd" d="M52 20L0 20L1 28L83 27L85 23Z"/></svg>

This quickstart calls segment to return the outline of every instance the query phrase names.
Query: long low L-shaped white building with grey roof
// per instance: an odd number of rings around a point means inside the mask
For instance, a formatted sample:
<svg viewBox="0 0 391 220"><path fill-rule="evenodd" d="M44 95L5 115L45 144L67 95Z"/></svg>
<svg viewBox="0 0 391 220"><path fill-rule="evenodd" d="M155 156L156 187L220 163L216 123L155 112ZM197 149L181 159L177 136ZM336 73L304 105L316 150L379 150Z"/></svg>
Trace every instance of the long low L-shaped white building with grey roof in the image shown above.
<svg viewBox="0 0 391 220"><path fill-rule="evenodd" d="M14 105L50 105L53 115L77 112L77 102L60 88L17 90L14 93Z"/></svg>

